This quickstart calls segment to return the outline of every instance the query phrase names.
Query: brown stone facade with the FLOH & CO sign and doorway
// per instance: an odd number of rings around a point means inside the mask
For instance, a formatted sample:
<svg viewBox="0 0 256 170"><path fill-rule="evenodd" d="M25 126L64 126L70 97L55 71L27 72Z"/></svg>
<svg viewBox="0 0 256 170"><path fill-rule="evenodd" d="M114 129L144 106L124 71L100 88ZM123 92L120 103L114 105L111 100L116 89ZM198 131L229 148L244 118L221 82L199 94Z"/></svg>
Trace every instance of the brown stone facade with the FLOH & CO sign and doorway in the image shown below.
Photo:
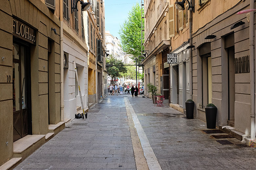
<svg viewBox="0 0 256 170"><path fill-rule="evenodd" d="M0 165L5 168L6 162L25 159L65 122L60 122L58 1L1 4Z"/></svg>

